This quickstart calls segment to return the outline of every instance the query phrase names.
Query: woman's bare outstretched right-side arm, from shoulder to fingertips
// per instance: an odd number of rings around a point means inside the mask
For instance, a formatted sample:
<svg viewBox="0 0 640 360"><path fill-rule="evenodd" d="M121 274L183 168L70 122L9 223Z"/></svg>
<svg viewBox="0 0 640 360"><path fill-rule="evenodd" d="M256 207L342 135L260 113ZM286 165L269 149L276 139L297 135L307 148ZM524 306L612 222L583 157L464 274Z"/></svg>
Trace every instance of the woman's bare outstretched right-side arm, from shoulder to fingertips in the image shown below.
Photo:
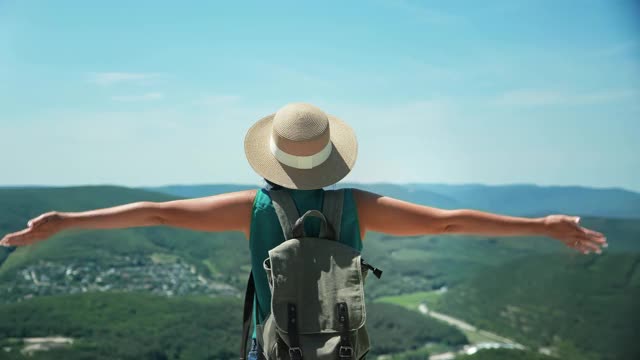
<svg viewBox="0 0 640 360"><path fill-rule="evenodd" d="M579 225L579 218L550 215L526 218L477 210L443 210L362 190L354 190L361 231L390 235L474 234L487 236L539 235L562 241L582 252L600 252L603 234Z"/></svg>

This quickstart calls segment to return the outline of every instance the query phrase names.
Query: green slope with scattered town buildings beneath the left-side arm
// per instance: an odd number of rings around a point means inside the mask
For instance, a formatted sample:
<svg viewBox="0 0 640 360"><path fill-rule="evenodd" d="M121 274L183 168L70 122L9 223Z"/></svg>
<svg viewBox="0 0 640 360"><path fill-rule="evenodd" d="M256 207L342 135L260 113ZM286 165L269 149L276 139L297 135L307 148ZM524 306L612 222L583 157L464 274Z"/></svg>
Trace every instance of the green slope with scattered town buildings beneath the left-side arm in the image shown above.
<svg viewBox="0 0 640 360"><path fill-rule="evenodd" d="M161 227L64 232L9 256L0 266L0 302L106 290L239 296L247 245L237 233Z"/></svg>

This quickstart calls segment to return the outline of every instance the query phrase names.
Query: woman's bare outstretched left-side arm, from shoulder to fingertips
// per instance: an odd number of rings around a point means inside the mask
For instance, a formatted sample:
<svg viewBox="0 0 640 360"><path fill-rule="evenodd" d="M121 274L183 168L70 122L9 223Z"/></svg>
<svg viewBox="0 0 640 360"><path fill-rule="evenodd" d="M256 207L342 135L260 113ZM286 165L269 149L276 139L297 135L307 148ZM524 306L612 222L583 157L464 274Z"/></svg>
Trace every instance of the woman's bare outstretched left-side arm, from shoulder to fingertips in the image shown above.
<svg viewBox="0 0 640 360"><path fill-rule="evenodd" d="M72 228L120 229L165 225L200 231L242 231L247 235L255 190L166 202L141 201L83 212L52 211L5 235L0 245L30 245Z"/></svg>

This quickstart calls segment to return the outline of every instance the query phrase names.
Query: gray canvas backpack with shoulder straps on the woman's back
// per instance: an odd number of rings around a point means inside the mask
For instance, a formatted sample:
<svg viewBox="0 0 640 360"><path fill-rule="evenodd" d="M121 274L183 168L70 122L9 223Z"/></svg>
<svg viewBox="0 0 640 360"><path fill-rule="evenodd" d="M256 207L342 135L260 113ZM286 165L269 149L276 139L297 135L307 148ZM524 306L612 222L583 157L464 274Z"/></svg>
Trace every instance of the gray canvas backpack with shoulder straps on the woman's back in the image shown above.
<svg viewBox="0 0 640 360"><path fill-rule="evenodd" d="M269 192L285 241L264 260L271 313L256 327L267 360L359 360L369 351L364 281L369 270L354 248L340 243L344 190L325 191L322 212L299 216L286 190ZM320 219L320 234L305 233L307 219ZM253 276L245 295L240 358L246 345L254 298Z"/></svg>

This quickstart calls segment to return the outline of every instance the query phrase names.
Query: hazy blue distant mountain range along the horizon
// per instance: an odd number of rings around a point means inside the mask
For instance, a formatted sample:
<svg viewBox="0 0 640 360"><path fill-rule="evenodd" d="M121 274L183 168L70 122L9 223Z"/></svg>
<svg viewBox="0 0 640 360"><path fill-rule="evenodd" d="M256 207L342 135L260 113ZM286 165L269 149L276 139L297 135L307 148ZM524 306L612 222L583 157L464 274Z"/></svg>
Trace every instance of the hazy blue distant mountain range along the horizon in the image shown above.
<svg viewBox="0 0 640 360"><path fill-rule="evenodd" d="M469 208L500 214L537 216L562 213L611 218L640 218L640 193L609 188L537 185L338 184L444 209ZM146 190L179 197L202 197L255 189L252 185L169 185Z"/></svg>

